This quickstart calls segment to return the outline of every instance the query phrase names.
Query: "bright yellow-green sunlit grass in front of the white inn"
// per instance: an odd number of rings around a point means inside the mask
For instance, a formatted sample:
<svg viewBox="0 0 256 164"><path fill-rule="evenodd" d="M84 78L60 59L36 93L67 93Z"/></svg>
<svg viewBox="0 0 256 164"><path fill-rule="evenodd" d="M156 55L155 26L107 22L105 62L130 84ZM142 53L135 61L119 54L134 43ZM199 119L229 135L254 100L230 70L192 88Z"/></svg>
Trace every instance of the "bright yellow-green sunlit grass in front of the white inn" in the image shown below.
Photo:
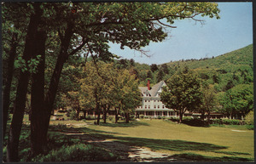
<svg viewBox="0 0 256 164"><path fill-rule="evenodd" d="M147 124L147 126L143 126ZM115 136L143 138L143 139L168 139L183 140L196 143L207 143L224 146L224 150L199 151L182 150L173 151L163 148L157 150L172 154L196 153L202 156L239 156L254 158L253 131L242 129L245 132L232 131L232 127L191 127L184 124L166 122L163 120L141 120L141 126L123 127L123 126L96 126L90 125L88 128L101 130L116 134ZM160 141L161 142L161 141Z"/></svg>

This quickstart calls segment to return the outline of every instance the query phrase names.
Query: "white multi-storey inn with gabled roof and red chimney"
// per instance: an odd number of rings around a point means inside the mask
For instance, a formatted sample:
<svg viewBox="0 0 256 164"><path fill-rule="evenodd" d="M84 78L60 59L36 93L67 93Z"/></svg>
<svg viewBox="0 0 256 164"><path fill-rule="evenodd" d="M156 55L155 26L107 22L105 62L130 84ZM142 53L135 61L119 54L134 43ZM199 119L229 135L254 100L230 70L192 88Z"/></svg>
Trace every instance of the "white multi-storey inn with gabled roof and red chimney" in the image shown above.
<svg viewBox="0 0 256 164"><path fill-rule="evenodd" d="M166 108L166 105L160 101L160 93L164 86L166 86L166 82L161 81L150 88L150 83L148 81L147 87L139 87L143 96L143 102L141 106L137 107L136 116L177 116L174 110Z"/></svg>

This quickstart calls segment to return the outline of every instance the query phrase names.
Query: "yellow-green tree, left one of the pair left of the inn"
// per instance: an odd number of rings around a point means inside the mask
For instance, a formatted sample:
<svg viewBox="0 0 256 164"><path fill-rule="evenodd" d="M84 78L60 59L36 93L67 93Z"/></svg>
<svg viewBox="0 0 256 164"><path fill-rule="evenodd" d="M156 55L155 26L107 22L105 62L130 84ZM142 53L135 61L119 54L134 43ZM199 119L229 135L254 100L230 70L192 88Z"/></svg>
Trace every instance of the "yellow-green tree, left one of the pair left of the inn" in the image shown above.
<svg viewBox="0 0 256 164"><path fill-rule="evenodd" d="M86 76L80 80L79 99L84 107L95 109L99 125L102 109L106 110L113 104L113 64L89 62L86 67ZM105 118L106 114L104 112Z"/></svg>

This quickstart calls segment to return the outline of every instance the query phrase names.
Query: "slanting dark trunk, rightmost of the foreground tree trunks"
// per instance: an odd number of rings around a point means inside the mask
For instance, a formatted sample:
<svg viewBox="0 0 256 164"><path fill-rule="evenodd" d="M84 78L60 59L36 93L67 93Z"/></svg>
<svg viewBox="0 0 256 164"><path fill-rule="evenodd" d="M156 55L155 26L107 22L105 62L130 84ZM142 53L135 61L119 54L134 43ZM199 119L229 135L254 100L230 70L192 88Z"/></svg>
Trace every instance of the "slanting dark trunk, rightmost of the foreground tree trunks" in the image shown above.
<svg viewBox="0 0 256 164"><path fill-rule="evenodd" d="M47 136L50 114L51 114L51 111L53 110L55 96L56 96L58 85L60 82L61 71L62 71L64 63L68 59L67 49L69 47L71 37L73 36L73 26L74 26L73 23L67 24L67 30L65 31L65 37L63 37L61 39L60 54L58 55L58 59L57 59L56 65L55 65L55 70L50 79L49 92L47 93L47 95L45 97L45 110L47 112L47 116L45 116L44 118L41 118L42 122L45 122L44 129L46 129L46 130L44 130L44 136Z"/></svg>

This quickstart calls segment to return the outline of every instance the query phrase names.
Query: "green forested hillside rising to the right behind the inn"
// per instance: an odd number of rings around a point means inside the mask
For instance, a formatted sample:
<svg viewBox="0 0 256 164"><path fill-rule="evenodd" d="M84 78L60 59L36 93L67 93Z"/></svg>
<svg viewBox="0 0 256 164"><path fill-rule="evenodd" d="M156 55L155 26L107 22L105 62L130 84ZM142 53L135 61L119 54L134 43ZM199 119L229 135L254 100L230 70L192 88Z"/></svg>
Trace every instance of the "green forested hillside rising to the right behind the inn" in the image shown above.
<svg viewBox="0 0 256 164"><path fill-rule="evenodd" d="M237 84L248 84L253 82L253 44L215 58L182 59L163 65L135 65L141 85L145 85L148 78L151 84L166 80L184 67L214 84L218 92L226 91Z"/></svg>

